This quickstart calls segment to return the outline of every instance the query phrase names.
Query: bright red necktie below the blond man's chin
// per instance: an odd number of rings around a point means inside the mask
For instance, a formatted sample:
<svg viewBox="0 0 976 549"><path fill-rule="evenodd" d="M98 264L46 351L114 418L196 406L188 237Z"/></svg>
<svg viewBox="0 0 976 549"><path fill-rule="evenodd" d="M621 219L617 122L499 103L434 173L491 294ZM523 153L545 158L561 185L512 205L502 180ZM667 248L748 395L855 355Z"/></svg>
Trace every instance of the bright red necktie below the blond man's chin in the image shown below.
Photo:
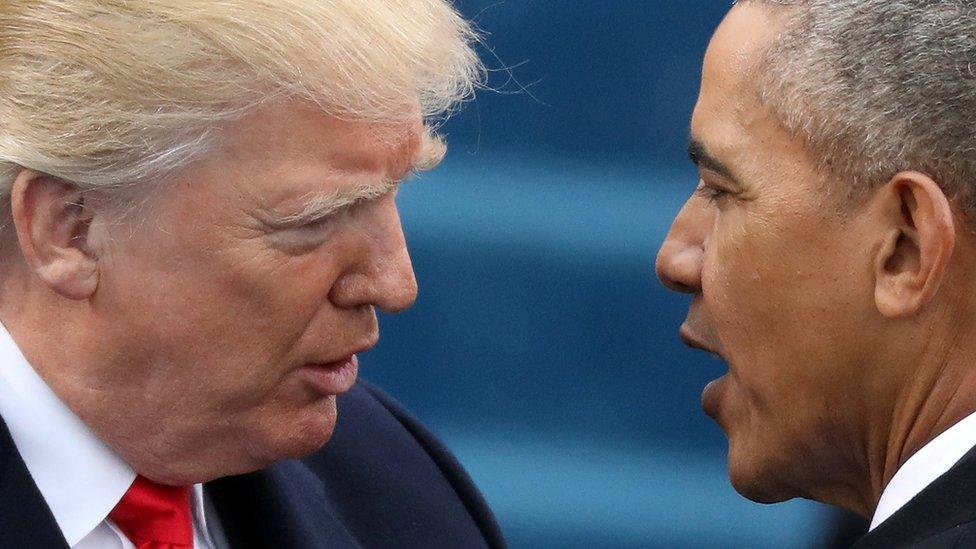
<svg viewBox="0 0 976 549"><path fill-rule="evenodd" d="M138 476L108 518L139 549L193 549L189 486Z"/></svg>

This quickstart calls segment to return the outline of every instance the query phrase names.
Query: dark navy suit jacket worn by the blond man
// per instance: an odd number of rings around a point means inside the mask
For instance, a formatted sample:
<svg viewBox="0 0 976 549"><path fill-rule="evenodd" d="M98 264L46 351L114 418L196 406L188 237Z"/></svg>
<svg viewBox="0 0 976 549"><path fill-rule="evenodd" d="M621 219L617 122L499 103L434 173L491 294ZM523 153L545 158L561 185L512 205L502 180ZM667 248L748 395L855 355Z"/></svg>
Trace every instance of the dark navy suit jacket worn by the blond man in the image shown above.
<svg viewBox="0 0 976 549"><path fill-rule="evenodd" d="M233 548L505 546L451 453L362 381L339 398L336 431L322 450L206 490ZM2 421L0 547L67 547Z"/></svg>

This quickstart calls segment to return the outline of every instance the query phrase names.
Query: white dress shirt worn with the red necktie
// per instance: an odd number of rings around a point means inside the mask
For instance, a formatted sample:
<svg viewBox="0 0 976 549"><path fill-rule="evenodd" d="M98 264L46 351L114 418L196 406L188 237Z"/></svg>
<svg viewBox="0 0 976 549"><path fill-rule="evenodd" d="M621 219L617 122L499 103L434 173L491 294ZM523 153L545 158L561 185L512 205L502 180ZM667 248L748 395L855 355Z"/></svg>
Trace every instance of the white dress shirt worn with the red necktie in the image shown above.
<svg viewBox="0 0 976 549"><path fill-rule="evenodd" d="M134 549L107 517L136 473L47 386L2 325L0 417L70 547ZM205 512L203 485L192 496L194 547L226 547L217 517Z"/></svg>

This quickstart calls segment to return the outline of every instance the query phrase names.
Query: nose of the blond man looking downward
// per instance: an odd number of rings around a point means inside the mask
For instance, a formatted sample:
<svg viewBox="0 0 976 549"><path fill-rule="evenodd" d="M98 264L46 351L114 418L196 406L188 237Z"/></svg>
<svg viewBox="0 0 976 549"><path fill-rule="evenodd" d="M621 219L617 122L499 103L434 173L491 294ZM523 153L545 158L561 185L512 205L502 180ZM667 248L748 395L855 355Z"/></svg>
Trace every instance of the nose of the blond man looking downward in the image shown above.
<svg viewBox="0 0 976 549"><path fill-rule="evenodd" d="M345 308L373 305L400 312L417 299L417 279L400 215L392 196L379 199L372 210L373 215L362 220L361 260L336 281L329 298Z"/></svg>

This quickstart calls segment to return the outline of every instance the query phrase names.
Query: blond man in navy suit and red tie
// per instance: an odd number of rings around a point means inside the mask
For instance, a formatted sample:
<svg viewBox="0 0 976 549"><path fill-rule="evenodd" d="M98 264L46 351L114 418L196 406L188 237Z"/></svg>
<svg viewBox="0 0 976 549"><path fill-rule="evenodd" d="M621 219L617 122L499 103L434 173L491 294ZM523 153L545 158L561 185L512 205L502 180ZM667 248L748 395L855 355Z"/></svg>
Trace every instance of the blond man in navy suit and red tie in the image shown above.
<svg viewBox="0 0 976 549"><path fill-rule="evenodd" d="M473 40L446 0L0 4L0 547L503 545L356 383Z"/></svg>

